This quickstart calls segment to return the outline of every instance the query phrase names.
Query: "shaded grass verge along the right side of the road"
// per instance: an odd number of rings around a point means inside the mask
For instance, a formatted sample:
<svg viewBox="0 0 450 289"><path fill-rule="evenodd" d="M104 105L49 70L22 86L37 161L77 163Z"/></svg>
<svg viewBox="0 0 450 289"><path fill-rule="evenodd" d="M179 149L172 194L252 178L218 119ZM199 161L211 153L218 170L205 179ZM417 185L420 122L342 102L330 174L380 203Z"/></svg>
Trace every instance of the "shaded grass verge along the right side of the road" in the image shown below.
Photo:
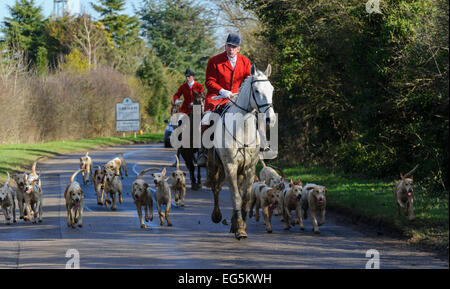
<svg viewBox="0 0 450 289"><path fill-rule="evenodd" d="M398 216L394 199L394 180L370 180L312 166L282 166L286 178L300 179L303 184L327 187L327 207L353 221L375 225L381 231L399 233L410 244L435 249L448 255L448 197L432 197L420 185L414 190L416 219ZM258 166L259 172L261 166Z"/></svg>

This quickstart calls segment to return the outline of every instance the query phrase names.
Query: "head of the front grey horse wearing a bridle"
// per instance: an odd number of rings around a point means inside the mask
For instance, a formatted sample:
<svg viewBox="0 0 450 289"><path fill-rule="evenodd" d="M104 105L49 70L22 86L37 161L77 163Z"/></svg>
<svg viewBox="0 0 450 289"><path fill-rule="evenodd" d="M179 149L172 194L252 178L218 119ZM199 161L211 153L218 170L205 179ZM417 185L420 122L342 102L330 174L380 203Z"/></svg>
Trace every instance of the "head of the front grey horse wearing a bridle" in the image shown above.
<svg viewBox="0 0 450 289"><path fill-rule="evenodd" d="M267 66L265 72L261 72L256 69L253 64L251 68L251 98L250 105L253 109L256 109L258 113L264 113L266 115L266 123L269 127L275 125L276 116L273 110L272 97L273 86L270 84L269 76L272 72L270 64Z"/></svg>

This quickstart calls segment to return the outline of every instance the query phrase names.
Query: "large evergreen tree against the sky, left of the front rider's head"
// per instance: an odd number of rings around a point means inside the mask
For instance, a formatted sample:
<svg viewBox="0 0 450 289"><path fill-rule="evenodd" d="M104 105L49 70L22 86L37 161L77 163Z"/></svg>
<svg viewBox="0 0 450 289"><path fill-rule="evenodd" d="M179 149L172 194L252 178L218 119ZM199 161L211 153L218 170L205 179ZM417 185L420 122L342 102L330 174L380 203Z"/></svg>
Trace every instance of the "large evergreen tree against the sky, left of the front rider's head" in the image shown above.
<svg viewBox="0 0 450 289"><path fill-rule="evenodd" d="M204 80L214 52L213 20L190 0L147 0L140 10L144 36L165 66L184 73L191 67Z"/></svg>

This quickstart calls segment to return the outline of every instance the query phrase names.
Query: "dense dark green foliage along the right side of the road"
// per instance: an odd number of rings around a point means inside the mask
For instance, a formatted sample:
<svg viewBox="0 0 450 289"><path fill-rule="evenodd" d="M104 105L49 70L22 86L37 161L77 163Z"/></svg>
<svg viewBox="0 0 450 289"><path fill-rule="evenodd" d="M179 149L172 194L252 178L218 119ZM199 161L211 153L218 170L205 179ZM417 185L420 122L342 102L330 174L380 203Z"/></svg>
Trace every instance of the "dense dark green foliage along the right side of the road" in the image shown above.
<svg viewBox="0 0 450 289"><path fill-rule="evenodd" d="M420 164L448 196L447 1L240 2L274 50L280 156L383 178Z"/></svg>

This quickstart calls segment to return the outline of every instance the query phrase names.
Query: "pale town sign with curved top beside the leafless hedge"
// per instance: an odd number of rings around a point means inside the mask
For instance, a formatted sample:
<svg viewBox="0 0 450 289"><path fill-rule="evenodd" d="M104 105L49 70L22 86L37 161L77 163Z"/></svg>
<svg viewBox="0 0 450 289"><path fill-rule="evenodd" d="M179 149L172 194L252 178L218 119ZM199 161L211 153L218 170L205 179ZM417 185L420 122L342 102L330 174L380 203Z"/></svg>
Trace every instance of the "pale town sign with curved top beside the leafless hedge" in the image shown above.
<svg viewBox="0 0 450 289"><path fill-rule="evenodd" d="M116 103L116 131L139 131L140 129L139 102L133 102L131 98L125 97L121 103Z"/></svg>

